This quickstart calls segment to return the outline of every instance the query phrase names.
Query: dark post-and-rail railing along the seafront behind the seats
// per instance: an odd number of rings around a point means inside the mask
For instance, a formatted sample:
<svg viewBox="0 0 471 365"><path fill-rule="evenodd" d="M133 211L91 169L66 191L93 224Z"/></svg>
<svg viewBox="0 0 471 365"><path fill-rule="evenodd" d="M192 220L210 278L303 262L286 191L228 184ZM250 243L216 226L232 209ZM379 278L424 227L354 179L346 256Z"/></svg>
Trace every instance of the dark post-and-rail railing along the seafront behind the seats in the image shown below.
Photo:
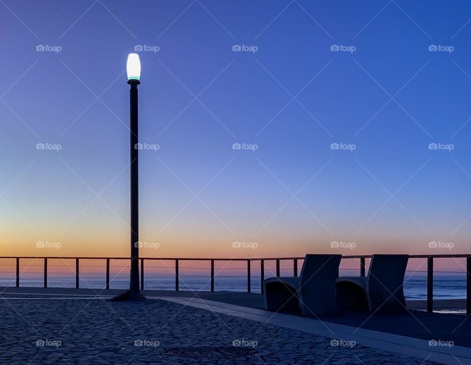
<svg viewBox="0 0 471 365"><path fill-rule="evenodd" d="M364 277L366 273L365 259L372 255L351 255L342 256L342 259L357 259L360 262L360 276ZM433 263L434 258L466 258L466 314L471 315L471 254L435 254L435 255L409 255L409 258L427 259L427 311L433 311ZM43 259L44 260L44 287L48 287L48 259L75 259L75 282L76 288L79 288L80 278L80 260L106 260L106 285L109 289L109 263L110 260L130 260L129 257L61 257L61 256L0 256L0 259L16 259L16 286L20 286L20 259ZM141 257L139 258L140 267L140 286L144 289L144 261L160 260L175 262L175 290L179 290L179 262L180 261L209 261L210 262L210 290L214 291L214 261L245 261L247 263L247 292L251 292L251 262L260 261L260 284L263 294L263 281L265 279L265 261L275 261L275 275L280 277L280 262L293 262L293 276L298 276L298 260L304 257L268 257L268 258L176 258L176 257ZM1 266L1 264L0 264Z"/></svg>

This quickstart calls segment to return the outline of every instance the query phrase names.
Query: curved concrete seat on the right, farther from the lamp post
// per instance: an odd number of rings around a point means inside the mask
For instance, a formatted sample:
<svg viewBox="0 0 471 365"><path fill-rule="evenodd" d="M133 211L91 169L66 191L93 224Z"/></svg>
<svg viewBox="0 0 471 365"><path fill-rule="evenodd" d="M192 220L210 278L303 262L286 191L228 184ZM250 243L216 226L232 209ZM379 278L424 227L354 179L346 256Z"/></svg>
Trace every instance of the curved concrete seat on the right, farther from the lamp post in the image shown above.
<svg viewBox="0 0 471 365"><path fill-rule="evenodd" d="M366 277L336 280L338 306L370 313L407 312L403 283L408 260L409 255L373 255Z"/></svg>

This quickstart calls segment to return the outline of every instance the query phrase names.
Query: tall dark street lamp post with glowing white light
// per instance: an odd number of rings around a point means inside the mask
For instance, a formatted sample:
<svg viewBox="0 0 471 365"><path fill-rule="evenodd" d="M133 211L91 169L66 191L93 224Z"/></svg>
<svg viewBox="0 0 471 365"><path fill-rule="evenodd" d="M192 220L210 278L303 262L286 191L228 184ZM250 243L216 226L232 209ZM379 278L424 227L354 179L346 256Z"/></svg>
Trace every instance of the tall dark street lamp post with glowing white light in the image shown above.
<svg viewBox="0 0 471 365"><path fill-rule="evenodd" d="M138 122L137 122L137 85L140 84L141 64L139 56L131 53L126 67L130 96L130 168L131 168L131 279L130 293L132 300L139 299L139 165L138 165Z"/></svg>

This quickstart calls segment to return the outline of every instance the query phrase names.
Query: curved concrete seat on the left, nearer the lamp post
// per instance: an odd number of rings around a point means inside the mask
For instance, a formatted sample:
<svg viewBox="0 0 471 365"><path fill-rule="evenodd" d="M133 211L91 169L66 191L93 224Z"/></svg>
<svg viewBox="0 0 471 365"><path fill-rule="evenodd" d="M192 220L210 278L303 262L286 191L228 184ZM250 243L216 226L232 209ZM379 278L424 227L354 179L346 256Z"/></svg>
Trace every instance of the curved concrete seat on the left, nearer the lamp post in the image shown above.
<svg viewBox="0 0 471 365"><path fill-rule="evenodd" d="M335 280L342 255L307 254L299 278L263 281L265 309L320 315L336 311Z"/></svg>

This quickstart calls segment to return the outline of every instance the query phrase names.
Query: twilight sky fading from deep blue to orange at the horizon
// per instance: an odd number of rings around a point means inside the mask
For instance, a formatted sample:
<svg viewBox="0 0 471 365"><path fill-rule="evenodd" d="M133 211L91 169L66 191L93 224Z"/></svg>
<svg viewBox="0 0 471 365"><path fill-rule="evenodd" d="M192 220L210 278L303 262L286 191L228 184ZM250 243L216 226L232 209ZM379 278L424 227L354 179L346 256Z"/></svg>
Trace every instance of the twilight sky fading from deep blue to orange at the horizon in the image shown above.
<svg viewBox="0 0 471 365"><path fill-rule="evenodd" d="M129 254L139 45L141 255L469 253L471 3L424 4L1 0L2 255Z"/></svg>

